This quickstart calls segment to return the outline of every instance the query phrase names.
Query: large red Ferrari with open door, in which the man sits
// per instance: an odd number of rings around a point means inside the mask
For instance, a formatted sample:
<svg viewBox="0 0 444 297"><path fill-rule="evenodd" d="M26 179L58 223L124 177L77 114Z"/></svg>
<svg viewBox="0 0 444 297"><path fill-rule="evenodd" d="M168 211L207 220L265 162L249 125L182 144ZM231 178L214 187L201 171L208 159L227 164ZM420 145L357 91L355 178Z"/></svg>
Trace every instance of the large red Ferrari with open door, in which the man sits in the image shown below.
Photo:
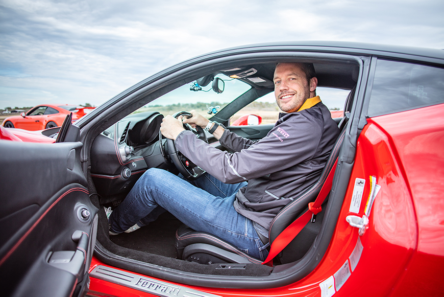
<svg viewBox="0 0 444 297"><path fill-rule="evenodd" d="M317 95L331 109L343 107L343 114L333 114L342 132L318 182L293 197L270 227L273 261L265 265L187 229L169 213L136 232L110 236L104 207L115 208L147 169L186 176L209 166L190 166L174 142L162 138L162 118L206 110L217 100L225 105L210 120L260 141L274 124L258 124L259 117L275 110L254 111L252 125L234 126L231 119L273 93L280 61L312 62ZM217 80L225 81L224 89ZM210 90L211 81L214 92L198 92ZM17 141L17 132L38 133L2 127L8 140L0 140L2 294L442 296L443 81L442 50L313 41L246 45L167 68L75 124L68 118L41 131L52 140L60 130L55 143ZM335 90L342 90L338 104L329 102ZM196 134L212 149L230 152L212 134Z"/></svg>

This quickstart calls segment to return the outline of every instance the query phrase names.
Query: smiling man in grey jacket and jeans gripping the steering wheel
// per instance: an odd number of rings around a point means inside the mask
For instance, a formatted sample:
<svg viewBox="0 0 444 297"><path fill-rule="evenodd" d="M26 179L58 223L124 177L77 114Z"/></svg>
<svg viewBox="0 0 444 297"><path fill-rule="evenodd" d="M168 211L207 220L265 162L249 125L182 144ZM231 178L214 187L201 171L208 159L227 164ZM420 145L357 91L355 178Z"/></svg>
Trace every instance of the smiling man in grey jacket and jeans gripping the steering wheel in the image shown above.
<svg viewBox="0 0 444 297"><path fill-rule="evenodd" d="M330 111L316 96L312 64L279 63L274 83L283 113L256 143L195 111L190 119L165 117L162 134L207 173L187 181L164 170L147 170L112 212L110 234L124 232L134 223L146 225L167 210L192 229L211 233L263 261L269 245L263 238L268 237L270 223L317 180L339 134ZM209 129L234 153L197 139L183 123Z"/></svg>

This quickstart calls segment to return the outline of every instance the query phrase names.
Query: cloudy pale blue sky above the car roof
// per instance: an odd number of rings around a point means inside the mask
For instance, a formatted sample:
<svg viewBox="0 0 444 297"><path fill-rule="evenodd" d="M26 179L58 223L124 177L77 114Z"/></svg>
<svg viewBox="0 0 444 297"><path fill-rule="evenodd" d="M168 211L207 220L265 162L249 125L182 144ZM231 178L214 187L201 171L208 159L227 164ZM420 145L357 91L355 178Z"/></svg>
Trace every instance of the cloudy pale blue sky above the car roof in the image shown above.
<svg viewBox="0 0 444 297"><path fill-rule="evenodd" d="M0 0L0 109L100 105L236 45L341 40L444 49L442 0Z"/></svg>

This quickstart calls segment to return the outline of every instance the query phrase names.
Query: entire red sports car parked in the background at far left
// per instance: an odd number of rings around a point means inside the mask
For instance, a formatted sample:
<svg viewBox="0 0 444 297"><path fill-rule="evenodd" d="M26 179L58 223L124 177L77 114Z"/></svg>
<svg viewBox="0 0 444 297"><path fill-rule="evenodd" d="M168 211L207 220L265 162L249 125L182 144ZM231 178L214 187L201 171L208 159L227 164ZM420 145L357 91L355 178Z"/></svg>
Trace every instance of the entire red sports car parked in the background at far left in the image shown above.
<svg viewBox="0 0 444 297"><path fill-rule="evenodd" d="M6 128L19 128L30 131L60 127L66 115L72 112L72 121L77 121L94 107L82 107L76 105L46 104L31 108L20 116L8 117L3 121Z"/></svg>

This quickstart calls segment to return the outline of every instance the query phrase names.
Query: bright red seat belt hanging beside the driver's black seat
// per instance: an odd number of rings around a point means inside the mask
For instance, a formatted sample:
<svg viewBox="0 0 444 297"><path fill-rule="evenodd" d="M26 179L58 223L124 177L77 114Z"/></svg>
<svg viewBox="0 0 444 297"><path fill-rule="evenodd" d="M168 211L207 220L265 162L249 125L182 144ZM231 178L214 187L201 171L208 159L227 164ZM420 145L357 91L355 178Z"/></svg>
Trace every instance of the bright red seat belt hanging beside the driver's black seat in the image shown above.
<svg viewBox="0 0 444 297"><path fill-rule="evenodd" d="M306 211L299 218L295 219L288 227L285 228L284 231L281 232L281 234L278 235L278 237L276 237L270 246L270 252L268 253L267 259L265 259L262 264L273 266L273 259L299 234L299 232L301 232L312 216L321 211L320 206L324 202L328 193L330 193L337 163L338 160L336 159L336 162L330 170L324 185L322 188L320 188L316 200L308 203L308 211Z"/></svg>

